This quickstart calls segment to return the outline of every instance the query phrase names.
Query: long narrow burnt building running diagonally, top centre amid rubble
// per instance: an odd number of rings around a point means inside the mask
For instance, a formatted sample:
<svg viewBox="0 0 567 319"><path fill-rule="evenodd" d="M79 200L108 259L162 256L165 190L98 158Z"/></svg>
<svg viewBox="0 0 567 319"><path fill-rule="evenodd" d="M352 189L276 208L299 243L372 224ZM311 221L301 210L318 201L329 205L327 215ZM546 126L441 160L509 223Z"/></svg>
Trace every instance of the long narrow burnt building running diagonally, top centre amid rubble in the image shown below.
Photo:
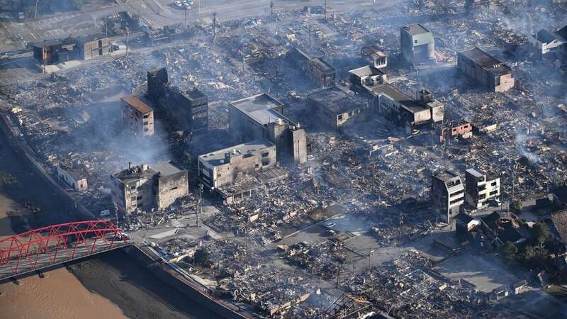
<svg viewBox="0 0 567 319"><path fill-rule="evenodd" d="M303 73L308 74L319 86L329 87L335 85L337 72L320 57L309 57L305 52L292 47L286 53L286 60L295 65Z"/></svg>

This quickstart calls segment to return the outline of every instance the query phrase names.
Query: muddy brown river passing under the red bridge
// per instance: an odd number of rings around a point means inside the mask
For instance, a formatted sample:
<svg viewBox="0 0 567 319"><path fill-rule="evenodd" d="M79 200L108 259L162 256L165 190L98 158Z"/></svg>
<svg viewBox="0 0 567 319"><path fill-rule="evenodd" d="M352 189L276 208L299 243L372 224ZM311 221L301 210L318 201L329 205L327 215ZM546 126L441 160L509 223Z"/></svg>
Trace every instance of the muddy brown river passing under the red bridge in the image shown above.
<svg viewBox="0 0 567 319"><path fill-rule="evenodd" d="M0 237L74 220L63 203L0 130ZM0 309L0 318L11 319L218 318L121 251L0 284Z"/></svg>

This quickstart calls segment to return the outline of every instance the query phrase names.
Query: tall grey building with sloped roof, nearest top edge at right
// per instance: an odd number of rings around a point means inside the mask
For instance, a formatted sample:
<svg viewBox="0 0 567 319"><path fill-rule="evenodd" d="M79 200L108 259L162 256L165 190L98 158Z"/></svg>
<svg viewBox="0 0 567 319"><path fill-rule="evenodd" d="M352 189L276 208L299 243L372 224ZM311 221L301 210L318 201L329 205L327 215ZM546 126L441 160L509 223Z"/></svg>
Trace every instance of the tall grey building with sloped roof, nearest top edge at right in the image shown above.
<svg viewBox="0 0 567 319"><path fill-rule="evenodd" d="M400 28L400 48L403 57L411 65L435 62L433 33L421 23Z"/></svg>

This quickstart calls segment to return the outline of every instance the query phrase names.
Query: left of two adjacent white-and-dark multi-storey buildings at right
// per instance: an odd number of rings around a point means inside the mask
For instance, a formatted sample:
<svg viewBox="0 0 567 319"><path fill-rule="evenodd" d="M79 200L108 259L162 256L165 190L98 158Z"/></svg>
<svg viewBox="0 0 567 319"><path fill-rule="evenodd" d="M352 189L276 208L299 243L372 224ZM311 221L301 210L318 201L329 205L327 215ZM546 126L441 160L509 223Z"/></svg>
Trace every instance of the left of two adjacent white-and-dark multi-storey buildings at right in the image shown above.
<svg viewBox="0 0 567 319"><path fill-rule="evenodd" d="M434 215L449 223L461 212L465 188L459 174L440 172L434 174L431 184L431 204Z"/></svg>

